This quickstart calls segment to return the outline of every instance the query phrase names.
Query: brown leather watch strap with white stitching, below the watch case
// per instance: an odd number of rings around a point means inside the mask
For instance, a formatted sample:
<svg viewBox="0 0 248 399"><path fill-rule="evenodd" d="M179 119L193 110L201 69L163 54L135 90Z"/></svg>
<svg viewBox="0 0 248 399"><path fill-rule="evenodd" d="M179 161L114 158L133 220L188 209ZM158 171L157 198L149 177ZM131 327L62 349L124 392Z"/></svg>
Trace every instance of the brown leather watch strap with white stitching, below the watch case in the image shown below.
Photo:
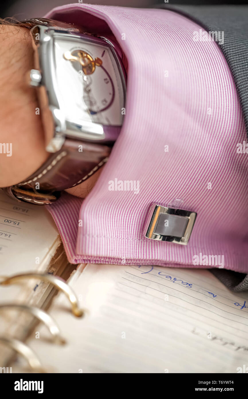
<svg viewBox="0 0 248 399"><path fill-rule="evenodd" d="M93 175L108 159L111 147L66 139L58 152L27 180L3 190L19 201L46 205L59 198L61 191L77 186Z"/></svg>

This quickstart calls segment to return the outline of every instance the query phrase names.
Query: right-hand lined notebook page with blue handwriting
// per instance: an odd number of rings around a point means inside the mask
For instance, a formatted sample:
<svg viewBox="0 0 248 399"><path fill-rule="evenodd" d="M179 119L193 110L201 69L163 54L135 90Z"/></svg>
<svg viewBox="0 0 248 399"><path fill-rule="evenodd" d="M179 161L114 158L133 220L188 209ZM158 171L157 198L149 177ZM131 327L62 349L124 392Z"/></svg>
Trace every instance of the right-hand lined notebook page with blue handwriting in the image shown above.
<svg viewBox="0 0 248 399"><path fill-rule="evenodd" d="M63 373L236 373L247 363L247 294L233 294L209 271L152 266L87 265L70 285L83 319L60 295L51 315L68 340L29 344ZM247 307L246 307L247 304Z"/></svg>

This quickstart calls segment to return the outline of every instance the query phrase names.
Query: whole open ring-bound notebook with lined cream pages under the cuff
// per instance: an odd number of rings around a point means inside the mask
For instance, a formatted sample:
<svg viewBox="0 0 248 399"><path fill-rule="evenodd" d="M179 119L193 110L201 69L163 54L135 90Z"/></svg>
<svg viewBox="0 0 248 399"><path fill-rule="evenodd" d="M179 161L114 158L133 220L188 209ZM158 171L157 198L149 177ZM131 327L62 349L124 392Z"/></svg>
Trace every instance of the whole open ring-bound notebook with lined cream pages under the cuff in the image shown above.
<svg viewBox="0 0 248 399"><path fill-rule="evenodd" d="M85 309L85 316L77 318L63 293L53 299L49 314L60 327L65 345L54 344L43 324L34 325L20 312L4 313L0 309L4 320L0 335L26 341L43 370L243 372L248 354L248 293L230 292L203 269L88 264L73 271L75 265L66 261L45 209L29 204L18 207L4 197L0 200L1 223L8 223L7 219L22 221L17 226L21 226L20 231L15 230L16 224L3 227L6 234L14 234L2 237L6 243L0 250L4 260L0 274L36 270L61 275L68 279ZM25 212L30 216L25 217ZM35 263L37 257L39 264ZM0 286L0 305L25 302L47 309L52 292L51 284L33 280L19 288ZM0 346L1 365L12 367L13 373L28 371L21 356L14 358Z"/></svg>

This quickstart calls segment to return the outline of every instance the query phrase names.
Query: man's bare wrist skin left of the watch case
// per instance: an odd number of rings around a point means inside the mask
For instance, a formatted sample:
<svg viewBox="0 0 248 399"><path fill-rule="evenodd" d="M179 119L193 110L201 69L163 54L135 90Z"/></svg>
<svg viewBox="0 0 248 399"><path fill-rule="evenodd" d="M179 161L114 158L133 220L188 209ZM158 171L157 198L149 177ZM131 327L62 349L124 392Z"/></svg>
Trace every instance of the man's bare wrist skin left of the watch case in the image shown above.
<svg viewBox="0 0 248 399"><path fill-rule="evenodd" d="M49 154L34 89L26 73L33 67L29 30L0 26L0 187L25 180Z"/></svg>

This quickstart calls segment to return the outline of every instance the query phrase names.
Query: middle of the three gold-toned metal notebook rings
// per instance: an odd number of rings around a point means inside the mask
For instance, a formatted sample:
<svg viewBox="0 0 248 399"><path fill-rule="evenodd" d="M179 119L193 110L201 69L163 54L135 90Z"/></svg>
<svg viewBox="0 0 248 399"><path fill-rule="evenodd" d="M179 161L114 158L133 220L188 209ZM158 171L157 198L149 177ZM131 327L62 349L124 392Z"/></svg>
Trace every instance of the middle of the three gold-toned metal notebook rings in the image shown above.
<svg viewBox="0 0 248 399"><path fill-rule="evenodd" d="M31 313L34 317L36 317L40 322L43 322L45 326L47 326L49 332L53 336L53 340L55 343L64 345L66 343L65 339L61 337L59 327L57 326L57 323L55 320L44 310L39 309L35 306L29 306L29 305L22 305L22 304L15 304L15 303L10 303L10 304L3 304L0 305L0 310L4 310L4 308L9 309L9 308L16 308L17 310L23 310L24 312L29 312Z"/></svg>

